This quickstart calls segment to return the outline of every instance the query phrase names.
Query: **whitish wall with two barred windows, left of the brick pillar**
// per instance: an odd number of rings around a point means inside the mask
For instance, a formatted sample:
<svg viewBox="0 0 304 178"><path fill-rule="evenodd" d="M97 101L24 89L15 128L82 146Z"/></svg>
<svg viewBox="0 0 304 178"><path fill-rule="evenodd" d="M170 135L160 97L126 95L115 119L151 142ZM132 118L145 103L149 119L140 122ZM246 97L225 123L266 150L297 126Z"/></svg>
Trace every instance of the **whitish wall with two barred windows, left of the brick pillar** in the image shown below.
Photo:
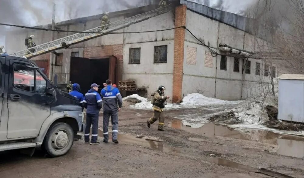
<svg viewBox="0 0 304 178"><path fill-rule="evenodd" d="M154 46L168 45L167 63L154 63ZM129 64L129 49L141 48L140 64ZM163 85L172 97L174 41L125 44L123 80L135 80L138 88L146 88L148 96ZM169 102L171 102L171 98Z"/></svg>

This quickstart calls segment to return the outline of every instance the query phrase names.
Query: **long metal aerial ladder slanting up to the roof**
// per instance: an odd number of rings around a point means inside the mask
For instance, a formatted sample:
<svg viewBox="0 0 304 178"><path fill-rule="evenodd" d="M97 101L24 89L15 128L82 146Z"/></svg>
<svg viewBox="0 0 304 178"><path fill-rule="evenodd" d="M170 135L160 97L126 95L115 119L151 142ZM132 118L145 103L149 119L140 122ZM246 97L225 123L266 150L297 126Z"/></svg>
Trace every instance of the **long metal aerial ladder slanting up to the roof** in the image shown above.
<svg viewBox="0 0 304 178"><path fill-rule="evenodd" d="M94 39L103 35L107 35L111 32L117 31L119 29L124 29L132 24L136 24L138 22L145 21L149 18L164 14L166 12L170 12L171 8L157 8L149 12L145 12L143 14L138 14L129 18L125 18L116 22L112 22L103 26L98 26L93 29L85 30L81 33L75 33L73 35L69 35L60 39L56 39L54 41L46 42L40 45L36 45L35 47L28 48L19 52L15 52L11 54L12 56L18 57L26 57L30 59L32 57L46 54L58 49L67 48L70 45L74 45L80 42L84 42L90 39ZM106 27L106 28L105 28ZM96 33L98 32L98 33Z"/></svg>

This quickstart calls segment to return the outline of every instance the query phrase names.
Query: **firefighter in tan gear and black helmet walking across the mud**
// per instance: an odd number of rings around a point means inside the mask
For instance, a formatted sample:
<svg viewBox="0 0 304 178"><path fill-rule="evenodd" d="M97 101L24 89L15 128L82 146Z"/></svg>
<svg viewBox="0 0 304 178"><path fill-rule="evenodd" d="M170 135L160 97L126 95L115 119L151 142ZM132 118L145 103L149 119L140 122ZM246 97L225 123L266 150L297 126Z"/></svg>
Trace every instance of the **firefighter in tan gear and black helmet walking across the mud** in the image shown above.
<svg viewBox="0 0 304 178"><path fill-rule="evenodd" d="M164 130L164 107L165 102L169 96L164 95L165 92L164 86L159 86L158 90L154 93L153 98L151 99L151 103L153 104L153 116L147 121L147 126L150 128L151 124L153 124L155 121L158 120L158 130L159 131L165 131Z"/></svg>

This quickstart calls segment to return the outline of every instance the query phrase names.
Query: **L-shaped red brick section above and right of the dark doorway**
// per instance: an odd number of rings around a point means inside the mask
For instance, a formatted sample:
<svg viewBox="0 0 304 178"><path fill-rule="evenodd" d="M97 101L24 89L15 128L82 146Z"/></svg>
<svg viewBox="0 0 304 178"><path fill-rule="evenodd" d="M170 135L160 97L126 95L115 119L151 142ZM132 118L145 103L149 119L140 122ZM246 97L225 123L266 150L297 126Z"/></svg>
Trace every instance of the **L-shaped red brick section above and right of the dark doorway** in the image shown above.
<svg viewBox="0 0 304 178"><path fill-rule="evenodd" d="M108 58L110 55L114 55L118 59L116 64L116 81L120 81L123 77L123 45L87 47L83 51L84 58Z"/></svg>

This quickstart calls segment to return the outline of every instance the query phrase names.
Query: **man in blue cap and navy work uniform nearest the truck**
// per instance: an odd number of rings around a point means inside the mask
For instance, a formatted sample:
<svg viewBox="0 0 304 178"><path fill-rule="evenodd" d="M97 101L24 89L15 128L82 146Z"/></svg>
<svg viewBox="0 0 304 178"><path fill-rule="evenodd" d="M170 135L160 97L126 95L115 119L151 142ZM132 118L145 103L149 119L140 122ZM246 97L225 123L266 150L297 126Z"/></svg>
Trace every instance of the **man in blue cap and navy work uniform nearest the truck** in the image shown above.
<svg viewBox="0 0 304 178"><path fill-rule="evenodd" d="M90 141L90 128L92 125L91 145L98 145L98 116L102 108L102 99L98 91L99 85L93 83L91 89L85 94L83 100L84 107L87 109L87 118L85 120L85 143Z"/></svg>

